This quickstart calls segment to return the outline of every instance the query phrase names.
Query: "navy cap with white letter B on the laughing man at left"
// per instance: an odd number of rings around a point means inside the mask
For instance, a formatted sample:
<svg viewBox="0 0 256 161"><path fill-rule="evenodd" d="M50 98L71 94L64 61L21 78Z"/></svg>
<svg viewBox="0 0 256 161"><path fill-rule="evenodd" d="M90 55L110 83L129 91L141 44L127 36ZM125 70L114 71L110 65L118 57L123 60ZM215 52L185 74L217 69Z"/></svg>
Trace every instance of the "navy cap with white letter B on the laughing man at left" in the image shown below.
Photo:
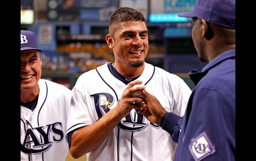
<svg viewBox="0 0 256 161"><path fill-rule="evenodd" d="M36 34L31 31L21 30L20 31L20 50L35 49L43 51L38 48Z"/></svg>

